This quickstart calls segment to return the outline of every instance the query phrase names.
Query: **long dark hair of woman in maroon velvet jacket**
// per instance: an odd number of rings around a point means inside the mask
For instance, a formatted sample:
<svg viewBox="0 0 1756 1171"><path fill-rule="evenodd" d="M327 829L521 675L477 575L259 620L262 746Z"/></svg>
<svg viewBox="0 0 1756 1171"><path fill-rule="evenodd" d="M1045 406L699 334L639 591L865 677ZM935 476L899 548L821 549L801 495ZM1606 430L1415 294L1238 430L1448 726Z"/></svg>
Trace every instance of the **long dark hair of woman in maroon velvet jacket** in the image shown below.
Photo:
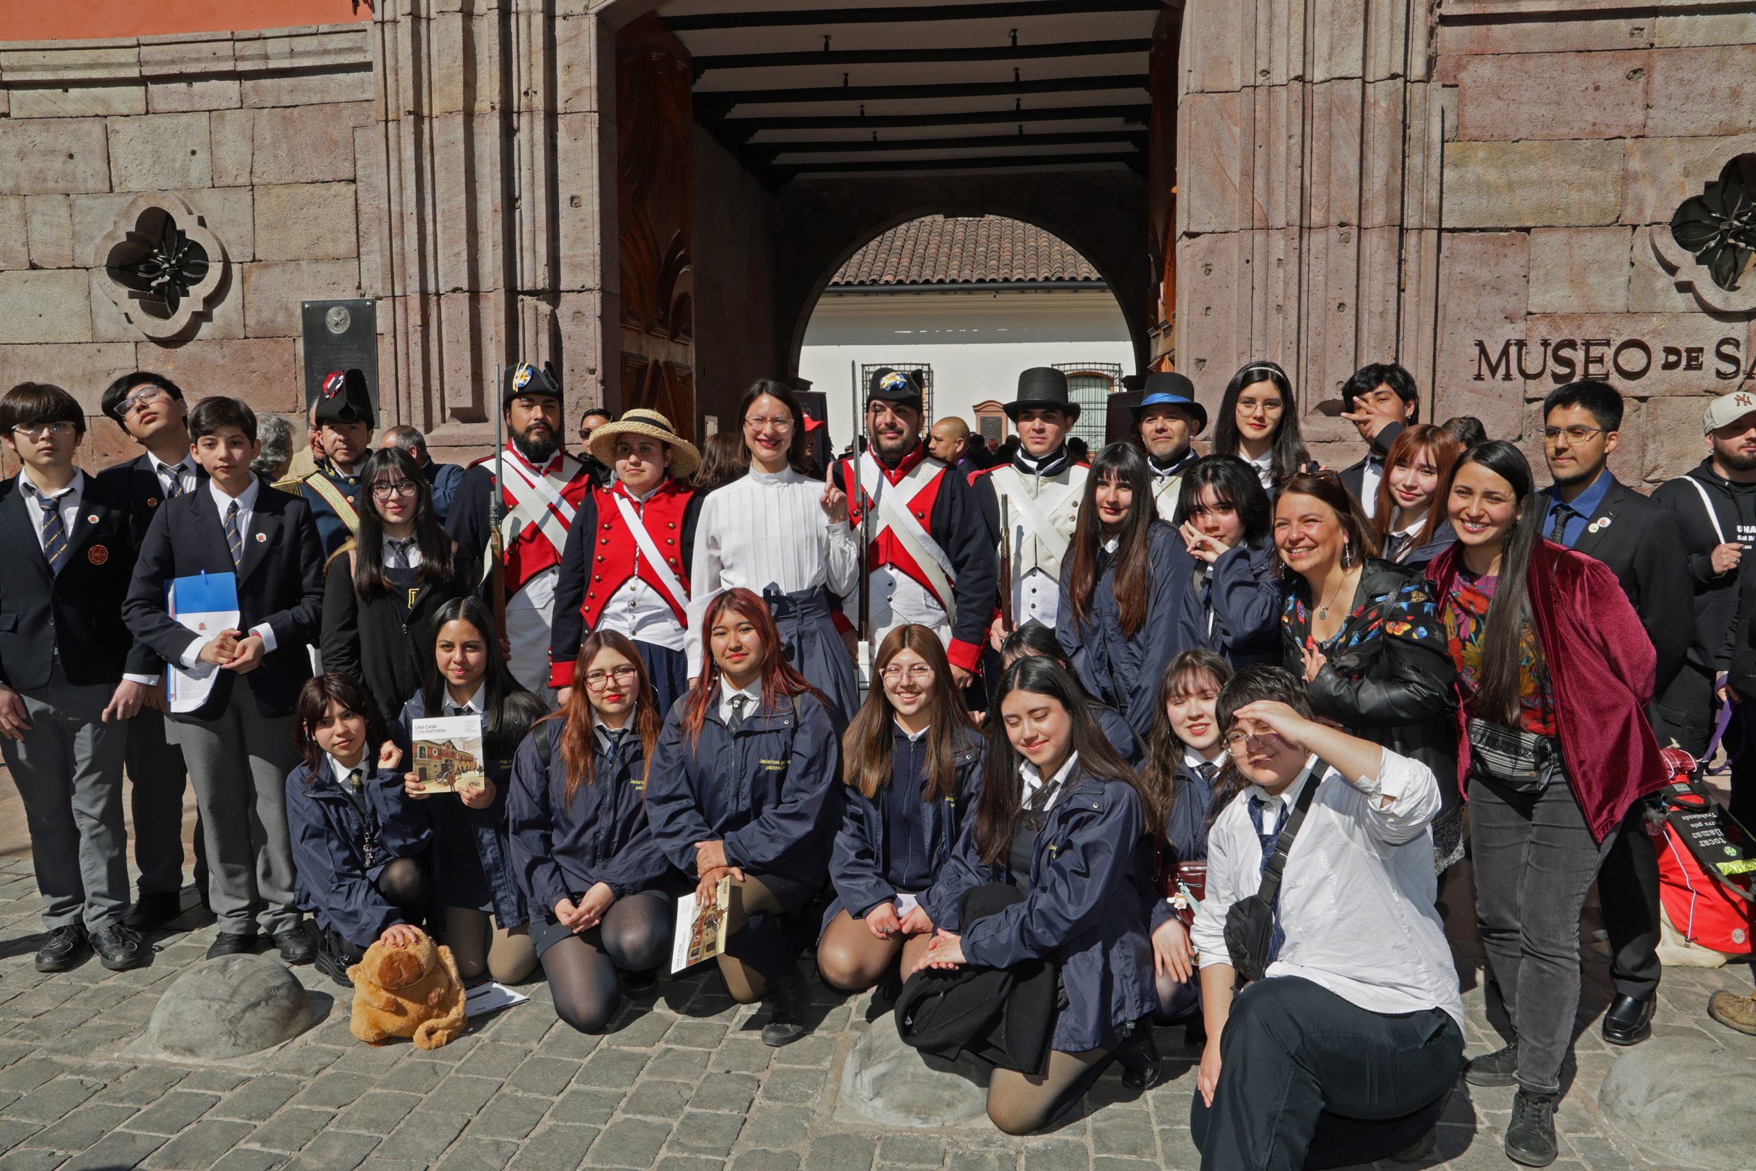
<svg viewBox="0 0 1756 1171"><path fill-rule="evenodd" d="M1531 616L1528 586L1531 550L1540 539L1542 509L1531 504L1531 465L1524 453L1505 439L1489 439L1457 456L1450 471L1480 463L1494 476L1512 485L1519 518L1500 550L1500 576L1494 583L1494 600L1487 606L1487 629L1482 630L1482 665L1475 683L1475 708L1486 718L1514 725L1519 715L1519 641ZM1447 490L1445 513L1450 514Z"/></svg>

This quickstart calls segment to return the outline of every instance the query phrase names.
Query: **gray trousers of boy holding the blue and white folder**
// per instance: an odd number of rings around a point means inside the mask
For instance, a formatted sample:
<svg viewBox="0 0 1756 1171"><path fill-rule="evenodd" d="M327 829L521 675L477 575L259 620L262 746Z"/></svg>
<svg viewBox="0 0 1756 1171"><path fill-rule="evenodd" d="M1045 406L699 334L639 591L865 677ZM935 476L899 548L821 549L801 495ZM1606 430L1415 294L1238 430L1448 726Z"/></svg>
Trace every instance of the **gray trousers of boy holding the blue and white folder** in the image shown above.
<svg viewBox="0 0 1756 1171"><path fill-rule="evenodd" d="M263 716L249 683L212 720L179 720L183 760L207 843L207 902L220 930L253 936L299 925L286 774L299 764L293 716Z"/></svg>

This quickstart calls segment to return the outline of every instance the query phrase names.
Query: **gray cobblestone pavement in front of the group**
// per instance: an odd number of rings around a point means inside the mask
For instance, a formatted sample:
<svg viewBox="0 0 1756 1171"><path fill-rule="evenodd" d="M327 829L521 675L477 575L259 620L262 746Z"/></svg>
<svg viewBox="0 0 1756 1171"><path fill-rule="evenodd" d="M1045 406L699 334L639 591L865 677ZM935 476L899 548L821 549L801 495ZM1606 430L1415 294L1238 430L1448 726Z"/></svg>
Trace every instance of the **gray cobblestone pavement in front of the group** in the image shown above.
<svg viewBox="0 0 1756 1171"><path fill-rule="evenodd" d="M162 934L149 967L107 973L88 960L42 976L30 867L0 862L0 1171L32 1167L218 1167L221 1171L478 1171L655 1167L658 1171L1189 1171L1196 1052L1162 1029L1173 1078L1148 1094L1106 1073L1075 1117L1013 1139L989 1129L885 1132L836 1120L841 1064L867 1027L869 997L818 985L815 1029L769 1050L760 1011L739 1008L715 976L660 981L615 1031L581 1036L555 1020L546 987L421 1053L369 1048L348 1034L346 1001L311 967L300 980L327 1018L255 1066L197 1067L125 1053L160 992L205 953L211 923ZM200 918L198 913L186 920ZM1454 934L1465 934L1454 930ZM1468 952L1470 941L1459 945ZM1635 1171L1605 1134L1596 1090L1614 1052L1596 1031L1605 962L1586 950L1579 1076L1559 1110L1565 1171ZM1468 978L1470 1052L1491 1048L1479 976ZM1749 1046L1702 1011L1714 988L1749 988L1749 969L1668 969L1652 1043L1700 1034ZM1473 1099L1473 1101L1472 1101ZM1438 1162L1508 1167L1500 1132L1512 1090L1457 1090ZM1385 1167L1393 1164L1384 1164Z"/></svg>

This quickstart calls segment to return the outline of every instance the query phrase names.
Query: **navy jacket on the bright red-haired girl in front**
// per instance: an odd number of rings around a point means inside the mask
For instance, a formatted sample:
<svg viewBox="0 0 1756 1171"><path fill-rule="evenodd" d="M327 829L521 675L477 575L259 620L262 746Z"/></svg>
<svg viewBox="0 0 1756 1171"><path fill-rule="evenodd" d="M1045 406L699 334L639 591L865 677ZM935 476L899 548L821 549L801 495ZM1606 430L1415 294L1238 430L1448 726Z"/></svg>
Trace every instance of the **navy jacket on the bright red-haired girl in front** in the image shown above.
<svg viewBox="0 0 1756 1171"><path fill-rule="evenodd" d="M746 874L822 885L841 816L841 737L829 708L808 692L781 697L745 715L734 736L715 695L690 744L687 702L671 706L646 779L658 848L690 878L699 878L695 843L723 841L727 864Z"/></svg>

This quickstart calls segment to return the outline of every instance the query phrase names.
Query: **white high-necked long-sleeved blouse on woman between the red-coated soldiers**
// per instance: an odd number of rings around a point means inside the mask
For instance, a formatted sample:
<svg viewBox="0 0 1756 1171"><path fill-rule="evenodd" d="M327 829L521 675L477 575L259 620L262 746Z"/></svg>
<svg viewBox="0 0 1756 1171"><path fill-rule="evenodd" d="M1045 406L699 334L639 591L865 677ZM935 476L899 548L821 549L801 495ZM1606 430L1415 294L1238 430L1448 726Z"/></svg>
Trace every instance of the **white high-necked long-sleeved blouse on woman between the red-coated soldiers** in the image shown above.
<svg viewBox="0 0 1756 1171"><path fill-rule="evenodd" d="M743 586L762 593L776 586L797 593L829 586L846 595L860 572L859 537L846 521L831 523L818 502L824 481L783 469L752 467L718 488L695 521L695 562L690 576L688 629L699 630L708 604ZM701 672L701 639L688 639L688 674Z"/></svg>

